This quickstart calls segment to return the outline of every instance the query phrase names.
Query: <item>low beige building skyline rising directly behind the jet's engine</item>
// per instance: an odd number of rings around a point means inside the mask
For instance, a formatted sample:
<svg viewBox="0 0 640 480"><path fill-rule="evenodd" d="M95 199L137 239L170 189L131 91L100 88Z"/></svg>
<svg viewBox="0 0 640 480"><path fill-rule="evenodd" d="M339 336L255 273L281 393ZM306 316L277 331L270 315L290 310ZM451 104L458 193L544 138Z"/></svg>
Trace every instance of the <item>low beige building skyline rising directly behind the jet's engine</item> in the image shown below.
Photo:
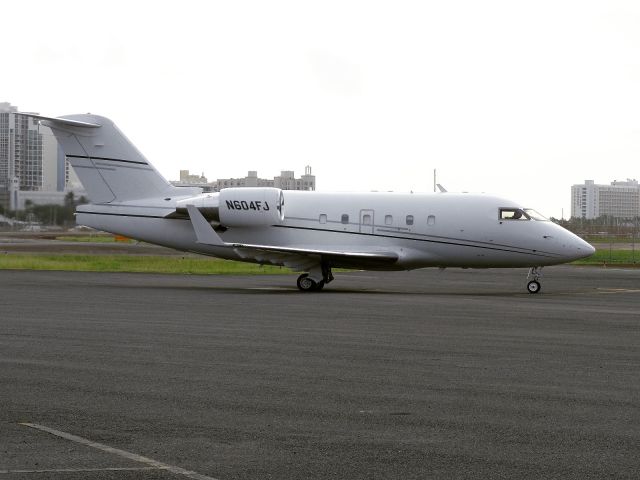
<svg viewBox="0 0 640 480"><path fill-rule="evenodd" d="M250 170L243 178L219 178L215 182L207 183L204 176L189 175L189 170L180 170L180 180L171 182L176 186L198 186L205 191L220 191L225 188L237 187L276 187L282 190L315 190L316 177L311 174L311 167L305 167L305 174L295 178L293 171L285 170L271 179L259 178L256 170Z"/></svg>

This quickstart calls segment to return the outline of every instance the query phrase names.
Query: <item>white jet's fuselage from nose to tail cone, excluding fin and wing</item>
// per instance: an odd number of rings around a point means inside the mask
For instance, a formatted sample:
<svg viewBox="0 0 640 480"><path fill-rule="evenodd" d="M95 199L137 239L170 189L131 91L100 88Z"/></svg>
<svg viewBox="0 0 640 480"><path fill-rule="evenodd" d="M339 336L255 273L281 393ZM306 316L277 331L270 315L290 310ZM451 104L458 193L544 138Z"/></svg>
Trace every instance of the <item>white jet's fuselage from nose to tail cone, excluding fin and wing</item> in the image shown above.
<svg viewBox="0 0 640 480"><path fill-rule="evenodd" d="M252 190L239 191L246 209L258 208ZM243 195L244 194L244 195ZM205 194L215 198L216 193ZM529 267L566 263L593 253L582 239L507 199L484 194L320 193L282 191L283 216L265 225L220 224L227 245L198 243L188 215L172 214L176 204L198 196L155 202L84 205L77 222L150 243L216 257L248 258L238 245L295 246L310 250L395 252L397 261L340 258L334 267L409 270L423 267ZM168 197L167 197L168 198ZM254 205L251 205L254 202ZM267 206L268 206L267 201ZM226 205L218 208L226 208ZM271 209L276 208L271 205ZM527 213L531 212L531 214ZM515 212L522 212L518 219ZM256 216L260 212L255 211ZM169 218L167 218L169 217ZM173 217L173 218L172 218Z"/></svg>

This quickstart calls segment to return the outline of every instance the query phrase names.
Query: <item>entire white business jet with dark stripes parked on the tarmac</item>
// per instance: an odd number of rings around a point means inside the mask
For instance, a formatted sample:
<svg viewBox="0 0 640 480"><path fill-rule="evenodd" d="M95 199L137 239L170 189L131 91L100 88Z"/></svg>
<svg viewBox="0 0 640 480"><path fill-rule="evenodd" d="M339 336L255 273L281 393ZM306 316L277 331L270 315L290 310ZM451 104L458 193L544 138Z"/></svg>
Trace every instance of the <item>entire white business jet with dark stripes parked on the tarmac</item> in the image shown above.
<svg viewBox="0 0 640 480"><path fill-rule="evenodd" d="M91 203L80 225L220 258L281 265L319 291L332 268L541 268L594 248L535 210L475 194L320 193L200 188L167 182L114 123L97 115L25 114L53 130Z"/></svg>

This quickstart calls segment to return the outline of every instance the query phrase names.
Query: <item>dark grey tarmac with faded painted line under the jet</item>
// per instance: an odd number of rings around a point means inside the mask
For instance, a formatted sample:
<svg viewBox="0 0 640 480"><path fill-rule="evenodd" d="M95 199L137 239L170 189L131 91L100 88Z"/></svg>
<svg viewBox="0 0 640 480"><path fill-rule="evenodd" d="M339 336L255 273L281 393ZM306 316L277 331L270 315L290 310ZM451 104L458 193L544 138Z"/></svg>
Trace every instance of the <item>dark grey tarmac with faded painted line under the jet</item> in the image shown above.
<svg viewBox="0 0 640 480"><path fill-rule="evenodd" d="M638 478L640 270L0 271L0 480Z"/></svg>

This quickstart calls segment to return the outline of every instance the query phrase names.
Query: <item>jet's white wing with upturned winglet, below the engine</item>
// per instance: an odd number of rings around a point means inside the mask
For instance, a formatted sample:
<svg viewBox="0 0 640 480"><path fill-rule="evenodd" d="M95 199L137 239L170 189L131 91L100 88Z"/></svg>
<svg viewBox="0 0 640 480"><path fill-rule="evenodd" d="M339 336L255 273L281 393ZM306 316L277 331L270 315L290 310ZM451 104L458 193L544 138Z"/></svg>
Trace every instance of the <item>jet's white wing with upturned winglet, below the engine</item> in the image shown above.
<svg viewBox="0 0 640 480"><path fill-rule="evenodd" d="M242 258L260 263L284 265L296 270L307 270L321 260L338 265L390 265L398 261L398 254L391 251L348 249L322 249L297 246L256 245L247 243L226 243L202 216L194 205L187 205L187 211L197 242L203 245L233 248Z"/></svg>

